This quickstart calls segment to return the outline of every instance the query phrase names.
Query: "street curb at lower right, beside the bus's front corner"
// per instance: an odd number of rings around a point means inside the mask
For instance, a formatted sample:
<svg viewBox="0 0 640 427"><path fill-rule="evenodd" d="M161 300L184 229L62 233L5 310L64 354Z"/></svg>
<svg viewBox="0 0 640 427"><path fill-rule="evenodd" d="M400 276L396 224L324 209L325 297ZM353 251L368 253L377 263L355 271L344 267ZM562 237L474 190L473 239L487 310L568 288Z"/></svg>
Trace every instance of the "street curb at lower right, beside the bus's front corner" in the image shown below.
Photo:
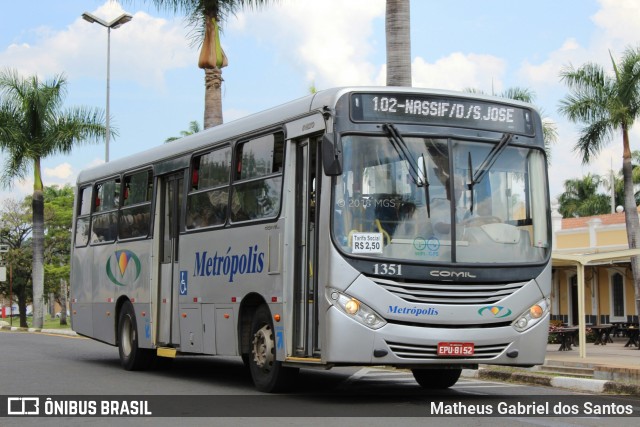
<svg viewBox="0 0 640 427"><path fill-rule="evenodd" d="M464 369L462 371L462 376L467 378L542 385L590 393L628 394L632 396L640 396L640 385L607 380L552 376L522 371L509 372L487 368L480 368L478 370Z"/></svg>

